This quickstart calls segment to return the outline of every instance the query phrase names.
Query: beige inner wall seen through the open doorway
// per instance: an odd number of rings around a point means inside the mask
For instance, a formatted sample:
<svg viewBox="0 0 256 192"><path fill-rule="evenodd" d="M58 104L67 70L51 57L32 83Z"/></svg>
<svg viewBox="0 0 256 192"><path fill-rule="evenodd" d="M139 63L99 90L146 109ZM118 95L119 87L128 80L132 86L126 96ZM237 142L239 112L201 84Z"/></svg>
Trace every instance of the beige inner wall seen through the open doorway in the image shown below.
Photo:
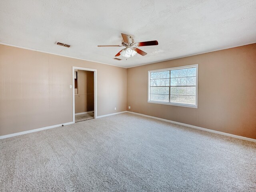
<svg viewBox="0 0 256 192"><path fill-rule="evenodd" d="M75 95L75 113L94 110L94 72L78 70L78 94Z"/></svg>

